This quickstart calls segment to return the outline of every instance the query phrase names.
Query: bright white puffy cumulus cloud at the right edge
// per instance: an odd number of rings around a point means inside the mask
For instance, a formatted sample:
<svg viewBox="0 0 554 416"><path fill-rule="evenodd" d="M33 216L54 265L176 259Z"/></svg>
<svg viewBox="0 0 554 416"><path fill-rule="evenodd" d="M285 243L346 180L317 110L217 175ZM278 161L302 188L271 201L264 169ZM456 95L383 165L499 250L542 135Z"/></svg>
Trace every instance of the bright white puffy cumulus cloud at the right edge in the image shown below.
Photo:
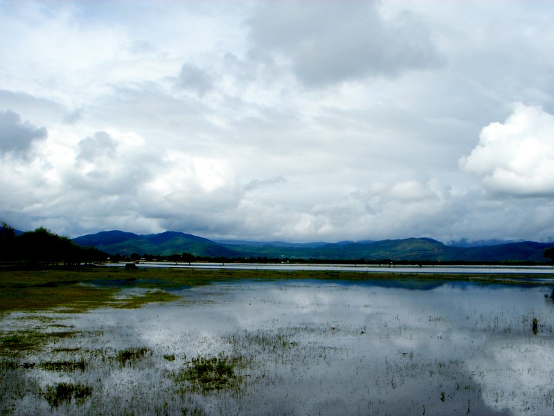
<svg viewBox="0 0 554 416"><path fill-rule="evenodd" d="M485 189L512 196L554 196L554 116L518 103L504 123L481 130L479 144L461 167Z"/></svg>

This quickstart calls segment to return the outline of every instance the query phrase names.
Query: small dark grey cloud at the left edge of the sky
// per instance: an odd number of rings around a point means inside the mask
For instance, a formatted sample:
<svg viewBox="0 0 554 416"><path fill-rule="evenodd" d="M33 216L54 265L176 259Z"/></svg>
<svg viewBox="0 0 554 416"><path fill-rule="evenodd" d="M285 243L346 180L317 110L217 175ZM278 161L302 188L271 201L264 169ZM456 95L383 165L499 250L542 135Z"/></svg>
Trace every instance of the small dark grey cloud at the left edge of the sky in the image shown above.
<svg viewBox="0 0 554 416"><path fill-rule="evenodd" d="M46 128L21 122L21 116L12 110L0 111L0 152L12 153L19 157L28 154L33 143L46 139Z"/></svg>

